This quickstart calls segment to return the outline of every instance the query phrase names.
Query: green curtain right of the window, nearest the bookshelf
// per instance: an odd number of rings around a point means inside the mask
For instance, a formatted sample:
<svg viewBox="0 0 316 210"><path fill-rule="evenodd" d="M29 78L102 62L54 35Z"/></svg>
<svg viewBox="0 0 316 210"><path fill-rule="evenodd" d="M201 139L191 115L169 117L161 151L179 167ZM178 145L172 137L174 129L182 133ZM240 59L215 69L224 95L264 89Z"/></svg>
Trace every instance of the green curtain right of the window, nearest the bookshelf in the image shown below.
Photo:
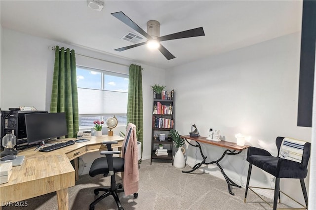
<svg viewBox="0 0 316 210"><path fill-rule="evenodd" d="M143 83L142 67L130 65L128 80L127 123L136 125L140 133L137 140L142 142L143 151ZM137 132L136 131L136 132Z"/></svg>

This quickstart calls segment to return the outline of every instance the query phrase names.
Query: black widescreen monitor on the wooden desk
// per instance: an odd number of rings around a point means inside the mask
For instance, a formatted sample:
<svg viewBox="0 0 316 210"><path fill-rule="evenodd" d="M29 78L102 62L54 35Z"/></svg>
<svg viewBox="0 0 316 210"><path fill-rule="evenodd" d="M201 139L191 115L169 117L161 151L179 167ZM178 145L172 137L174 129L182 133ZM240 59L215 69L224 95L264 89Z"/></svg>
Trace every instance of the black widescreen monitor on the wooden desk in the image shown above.
<svg viewBox="0 0 316 210"><path fill-rule="evenodd" d="M25 127L28 144L68 135L65 112L25 114Z"/></svg>

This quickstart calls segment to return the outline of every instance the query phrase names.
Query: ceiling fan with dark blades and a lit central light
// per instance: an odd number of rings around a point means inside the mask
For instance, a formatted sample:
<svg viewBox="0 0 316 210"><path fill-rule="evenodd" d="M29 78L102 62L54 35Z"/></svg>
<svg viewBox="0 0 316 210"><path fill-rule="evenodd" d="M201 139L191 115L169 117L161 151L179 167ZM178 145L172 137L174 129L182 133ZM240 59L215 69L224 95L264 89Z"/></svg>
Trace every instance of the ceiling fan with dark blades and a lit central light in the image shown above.
<svg viewBox="0 0 316 210"><path fill-rule="evenodd" d="M190 30L178 32L175 34L160 36L160 23L156 20L150 20L147 22L147 33L146 33L142 28L140 28L136 23L134 23L129 17L127 17L123 12L114 12L114 13L111 13L111 15L118 18L118 20L122 21L127 26L131 27L136 32L138 32L139 34L147 38L147 41L145 42L115 49L116 51L119 51L119 52L127 50L127 49L131 49L134 47L138 47L144 44L151 44L151 45L155 45L156 48L158 48L158 50L162 53L162 55L167 60L170 60L170 59L175 58L174 55L172 55L166 48L164 48L160 44L160 41L205 35L203 31L203 27L199 27L196 29L190 29Z"/></svg>

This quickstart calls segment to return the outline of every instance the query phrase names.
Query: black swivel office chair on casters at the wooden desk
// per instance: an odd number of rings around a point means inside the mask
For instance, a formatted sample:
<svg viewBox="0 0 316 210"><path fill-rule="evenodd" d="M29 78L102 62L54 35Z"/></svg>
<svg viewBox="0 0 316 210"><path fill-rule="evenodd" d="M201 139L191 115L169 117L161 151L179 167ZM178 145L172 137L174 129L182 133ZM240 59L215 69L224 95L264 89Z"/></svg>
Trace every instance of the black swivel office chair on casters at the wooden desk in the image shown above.
<svg viewBox="0 0 316 210"><path fill-rule="evenodd" d="M124 146L123 149L126 150L128 141L130 139L132 133L132 128L129 131L126 131L125 140L123 141ZM115 202L118 205L119 210L124 210L121 206L121 203L118 198L118 193L124 192L123 185L121 183L116 184L115 174L118 172L124 172L124 158L121 157L113 157L114 154L120 154L120 151L113 151L112 144L117 144L118 141L104 141L103 144L107 145L108 151L102 151L101 155L106 155L106 157L97 158L93 161L89 175L96 176L99 174L103 174L104 176L111 175L111 186L110 187L103 187L94 189L94 194L98 195L99 191L104 191L105 193L94 200L91 204L89 209L94 210L94 206L109 195L114 197ZM125 153L125 151L124 151ZM135 198L138 197L138 193L133 194Z"/></svg>

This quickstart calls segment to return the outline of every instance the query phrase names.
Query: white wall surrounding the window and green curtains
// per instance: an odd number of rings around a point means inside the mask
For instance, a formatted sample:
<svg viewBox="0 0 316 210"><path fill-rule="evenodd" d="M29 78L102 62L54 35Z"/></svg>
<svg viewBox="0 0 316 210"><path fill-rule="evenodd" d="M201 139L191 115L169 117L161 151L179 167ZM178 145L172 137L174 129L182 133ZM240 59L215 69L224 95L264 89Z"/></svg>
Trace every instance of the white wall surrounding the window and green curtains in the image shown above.
<svg viewBox="0 0 316 210"><path fill-rule="evenodd" d="M136 63L100 52L83 49L65 43L26 35L9 29L1 28L1 72L0 72L0 107L7 110L20 105L32 105L39 110L49 110L52 86L52 76L54 69L55 51L49 46L59 45L75 49L77 54L91 56L106 61L112 61L124 65ZM76 56L77 64L89 64L94 62L100 68L115 68L115 64L88 59L83 56ZM151 125L152 125L152 103L153 92L151 85L163 83L165 70L142 65L143 74L143 105L144 105L144 144L143 159L150 158L151 154ZM120 72L128 72L128 67L119 66ZM119 134L122 128L115 128L115 134ZM83 156L83 161L92 163L89 154ZM86 160L85 160L86 159ZM86 168L89 168L87 165ZM84 171L85 172L85 171Z"/></svg>

